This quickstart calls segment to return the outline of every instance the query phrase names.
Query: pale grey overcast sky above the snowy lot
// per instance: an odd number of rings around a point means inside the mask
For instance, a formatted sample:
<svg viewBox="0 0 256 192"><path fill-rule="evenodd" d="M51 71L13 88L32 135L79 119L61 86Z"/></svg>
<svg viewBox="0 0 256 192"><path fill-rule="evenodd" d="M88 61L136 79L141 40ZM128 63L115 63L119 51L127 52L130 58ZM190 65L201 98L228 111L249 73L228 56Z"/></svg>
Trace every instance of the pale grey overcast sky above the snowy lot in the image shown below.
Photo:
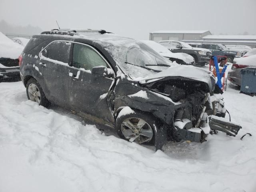
<svg viewBox="0 0 256 192"><path fill-rule="evenodd" d="M148 39L156 30L256 34L256 0L0 0L9 24L105 29ZM18 33L18 32L17 32Z"/></svg>

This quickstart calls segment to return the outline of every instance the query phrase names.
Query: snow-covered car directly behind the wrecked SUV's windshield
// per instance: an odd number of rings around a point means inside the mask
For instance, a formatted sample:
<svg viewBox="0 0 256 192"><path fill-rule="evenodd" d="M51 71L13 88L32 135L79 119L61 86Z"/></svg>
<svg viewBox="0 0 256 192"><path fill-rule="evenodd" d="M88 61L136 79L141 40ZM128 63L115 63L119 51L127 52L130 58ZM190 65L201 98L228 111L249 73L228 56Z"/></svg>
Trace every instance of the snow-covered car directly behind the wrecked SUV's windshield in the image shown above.
<svg viewBox="0 0 256 192"><path fill-rule="evenodd" d="M165 58L168 58L170 61L182 65L194 65L195 60L194 58L186 53L172 53L170 50L168 50L166 47L160 45L157 42L151 41L151 40L141 40L141 42L148 45L150 48L158 52L160 55L162 55Z"/></svg>

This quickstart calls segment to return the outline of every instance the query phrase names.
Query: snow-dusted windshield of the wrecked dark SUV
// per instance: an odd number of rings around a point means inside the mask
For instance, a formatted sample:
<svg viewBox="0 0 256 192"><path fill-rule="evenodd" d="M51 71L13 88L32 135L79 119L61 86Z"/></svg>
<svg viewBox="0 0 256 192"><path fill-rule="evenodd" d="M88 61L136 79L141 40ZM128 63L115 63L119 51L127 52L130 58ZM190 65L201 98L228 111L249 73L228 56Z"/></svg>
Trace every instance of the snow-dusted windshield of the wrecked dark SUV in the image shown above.
<svg viewBox="0 0 256 192"><path fill-rule="evenodd" d="M170 60L136 40L117 38L101 41L100 44L111 54L122 72L132 79L145 78L172 66Z"/></svg>

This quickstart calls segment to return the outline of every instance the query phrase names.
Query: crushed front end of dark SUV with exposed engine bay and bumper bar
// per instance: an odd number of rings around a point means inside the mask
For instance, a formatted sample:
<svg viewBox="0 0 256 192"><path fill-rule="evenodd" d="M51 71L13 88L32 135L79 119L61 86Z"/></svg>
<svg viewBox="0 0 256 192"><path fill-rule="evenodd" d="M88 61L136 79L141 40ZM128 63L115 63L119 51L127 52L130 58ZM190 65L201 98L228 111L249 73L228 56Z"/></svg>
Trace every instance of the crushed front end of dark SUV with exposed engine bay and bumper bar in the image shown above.
<svg viewBox="0 0 256 192"><path fill-rule="evenodd" d="M210 80L168 76L161 80L148 83L146 86L151 91L164 94L176 102L172 124L166 125L166 140L189 140L204 142L208 134L217 131L226 132L227 135L236 136L242 128L238 124L228 122L226 108L221 90L215 87L215 78L209 74ZM159 134L158 140L164 133Z"/></svg>

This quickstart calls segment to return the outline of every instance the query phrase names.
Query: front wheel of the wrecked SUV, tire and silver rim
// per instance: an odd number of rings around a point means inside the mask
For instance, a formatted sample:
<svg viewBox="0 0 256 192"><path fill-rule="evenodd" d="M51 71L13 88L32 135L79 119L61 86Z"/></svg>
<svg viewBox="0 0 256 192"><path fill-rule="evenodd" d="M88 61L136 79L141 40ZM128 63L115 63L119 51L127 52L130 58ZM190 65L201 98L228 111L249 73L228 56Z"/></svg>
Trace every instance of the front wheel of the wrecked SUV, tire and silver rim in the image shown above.
<svg viewBox="0 0 256 192"><path fill-rule="evenodd" d="M141 126L142 124L143 126ZM127 114L116 119L116 131L118 135L120 138L130 142L153 145L156 136L155 129L155 118L143 112Z"/></svg>

